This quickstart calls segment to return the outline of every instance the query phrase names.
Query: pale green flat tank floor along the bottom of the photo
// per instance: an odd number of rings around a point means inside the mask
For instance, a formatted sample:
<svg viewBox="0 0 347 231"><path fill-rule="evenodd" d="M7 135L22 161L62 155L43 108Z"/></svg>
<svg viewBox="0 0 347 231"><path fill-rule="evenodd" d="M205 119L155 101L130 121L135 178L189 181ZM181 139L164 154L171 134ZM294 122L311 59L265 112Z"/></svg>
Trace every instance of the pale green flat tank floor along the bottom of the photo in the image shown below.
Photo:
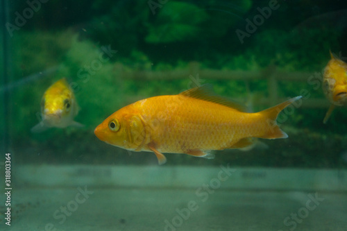
<svg viewBox="0 0 347 231"><path fill-rule="evenodd" d="M320 201L310 202L309 194ZM11 225L1 230L338 231L347 227L346 192L23 187L12 190L11 208Z"/></svg>

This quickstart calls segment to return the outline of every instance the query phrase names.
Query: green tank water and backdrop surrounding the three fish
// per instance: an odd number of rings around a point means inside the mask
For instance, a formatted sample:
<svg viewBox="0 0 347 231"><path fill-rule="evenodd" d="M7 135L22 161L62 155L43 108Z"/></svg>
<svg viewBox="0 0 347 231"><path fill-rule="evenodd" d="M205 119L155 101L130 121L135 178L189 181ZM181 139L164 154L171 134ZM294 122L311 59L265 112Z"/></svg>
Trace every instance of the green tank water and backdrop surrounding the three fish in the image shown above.
<svg viewBox="0 0 347 231"><path fill-rule="evenodd" d="M346 10L1 1L1 230L346 230L347 110L323 124L322 89L329 51L347 60ZM64 77L84 126L31 132L44 92ZM204 84L249 112L303 96L278 117L289 137L212 160L168 153L158 165L94 135L119 108Z"/></svg>

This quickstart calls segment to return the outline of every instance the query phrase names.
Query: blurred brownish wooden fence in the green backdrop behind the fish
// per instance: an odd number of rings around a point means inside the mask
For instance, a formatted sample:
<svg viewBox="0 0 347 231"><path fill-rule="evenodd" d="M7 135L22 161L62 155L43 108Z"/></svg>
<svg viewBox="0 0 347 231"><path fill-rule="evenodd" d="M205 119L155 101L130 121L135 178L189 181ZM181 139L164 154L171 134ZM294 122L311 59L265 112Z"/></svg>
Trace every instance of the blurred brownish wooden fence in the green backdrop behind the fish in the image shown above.
<svg viewBox="0 0 347 231"><path fill-rule="evenodd" d="M198 62L190 62L186 69L174 69L171 71L130 71L125 70L121 63L115 65L115 75L117 78L130 79L130 80L177 80L177 79L189 79L189 76L198 74L201 79L213 79L213 80L267 80L268 81L268 93L269 98L260 99L257 101L257 105L264 107L271 107L278 103L282 103L287 99L278 99L278 81L301 81L307 82L307 80L316 75L314 72L287 72L280 71L275 66L270 65L262 71L242 71L242 70L217 70L217 69L200 69ZM145 98L145 97L143 97ZM133 103L139 99L143 99L141 96L128 97L126 101ZM235 99L237 101L244 101L244 99ZM305 99L303 104L299 107L303 108L328 108L329 102L326 99Z"/></svg>

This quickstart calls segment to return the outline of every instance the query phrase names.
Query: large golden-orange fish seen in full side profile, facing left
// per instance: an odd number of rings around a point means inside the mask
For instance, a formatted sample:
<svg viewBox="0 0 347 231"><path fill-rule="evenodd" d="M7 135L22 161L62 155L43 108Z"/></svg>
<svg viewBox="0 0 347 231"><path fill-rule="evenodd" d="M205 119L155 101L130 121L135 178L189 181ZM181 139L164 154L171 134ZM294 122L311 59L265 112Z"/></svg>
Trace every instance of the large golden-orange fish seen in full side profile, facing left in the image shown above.
<svg viewBox="0 0 347 231"><path fill-rule="evenodd" d="M288 137L276 124L278 113L301 96L248 113L232 101L212 94L209 85L177 95L155 96L121 108L94 130L101 141L130 151L186 153L212 158L211 150L251 146L255 137Z"/></svg>

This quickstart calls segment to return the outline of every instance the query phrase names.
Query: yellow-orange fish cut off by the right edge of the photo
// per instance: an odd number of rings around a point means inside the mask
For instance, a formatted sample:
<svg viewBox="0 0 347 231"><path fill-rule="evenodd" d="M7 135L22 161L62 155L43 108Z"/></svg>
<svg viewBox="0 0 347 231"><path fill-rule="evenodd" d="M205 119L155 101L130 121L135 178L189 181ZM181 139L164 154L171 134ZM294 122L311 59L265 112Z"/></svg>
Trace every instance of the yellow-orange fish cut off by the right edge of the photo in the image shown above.
<svg viewBox="0 0 347 231"><path fill-rule="evenodd" d="M326 112L323 123L326 123L335 106L347 105L347 64L335 58L330 51L331 59L324 69L323 92L330 101L330 108Z"/></svg>

